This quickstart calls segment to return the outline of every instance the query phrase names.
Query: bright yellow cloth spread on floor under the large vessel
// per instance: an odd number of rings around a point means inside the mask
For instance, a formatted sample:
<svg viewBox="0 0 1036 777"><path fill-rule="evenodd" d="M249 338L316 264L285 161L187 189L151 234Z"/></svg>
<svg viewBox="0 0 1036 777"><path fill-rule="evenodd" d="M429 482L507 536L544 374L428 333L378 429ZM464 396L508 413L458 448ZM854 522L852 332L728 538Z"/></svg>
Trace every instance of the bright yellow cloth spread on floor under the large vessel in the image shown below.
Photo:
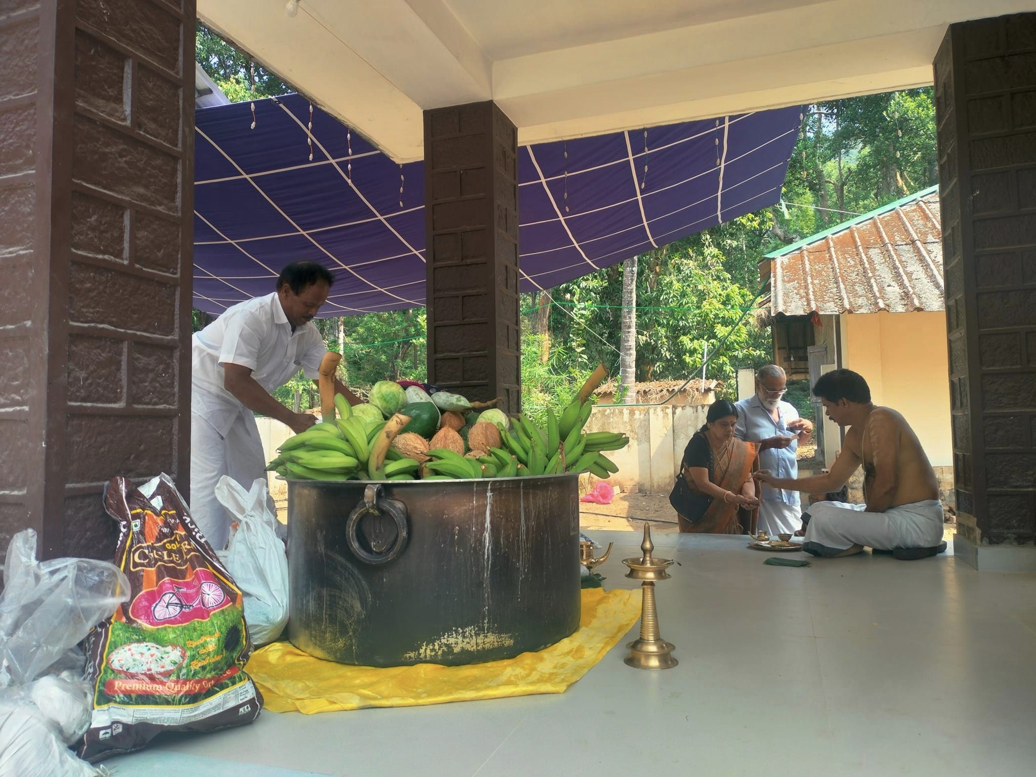
<svg viewBox="0 0 1036 777"><path fill-rule="evenodd" d="M585 588L579 629L539 653L467 666L379 668L321 661L290 642L275 642L256 651L246 671L272 712L312 714L563 693L589 671L639 616L639 591Z"/></svg>

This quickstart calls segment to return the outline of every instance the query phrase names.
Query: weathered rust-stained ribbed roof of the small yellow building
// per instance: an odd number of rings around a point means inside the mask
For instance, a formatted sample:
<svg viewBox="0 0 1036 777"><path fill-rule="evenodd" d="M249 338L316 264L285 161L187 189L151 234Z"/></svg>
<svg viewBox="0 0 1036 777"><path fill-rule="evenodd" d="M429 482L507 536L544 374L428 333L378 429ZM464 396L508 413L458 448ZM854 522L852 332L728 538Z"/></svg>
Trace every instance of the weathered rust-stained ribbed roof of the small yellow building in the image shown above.
<svg viewBox="0 0 1036 777"><path fill-rule="evenodd" d="M941 311L939 188L768 254L759 274L771 315Z"/></svg>

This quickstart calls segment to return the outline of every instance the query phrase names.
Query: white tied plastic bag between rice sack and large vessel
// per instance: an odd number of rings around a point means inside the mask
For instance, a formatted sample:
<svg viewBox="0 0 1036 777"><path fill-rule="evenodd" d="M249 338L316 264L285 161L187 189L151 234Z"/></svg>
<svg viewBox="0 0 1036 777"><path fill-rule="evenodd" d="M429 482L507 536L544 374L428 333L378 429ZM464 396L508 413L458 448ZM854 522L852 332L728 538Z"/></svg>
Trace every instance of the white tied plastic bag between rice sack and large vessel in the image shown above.
<svg viewBox="0 0 1036 777"><path fill-rule="evenodd" d="M215 485L215 498L237 522L227 549L217 555L244 595L244 623L252 643L272 642L288 623L288 557L277 536L266 479L257 479L246 491L223 476Z"/></svg>

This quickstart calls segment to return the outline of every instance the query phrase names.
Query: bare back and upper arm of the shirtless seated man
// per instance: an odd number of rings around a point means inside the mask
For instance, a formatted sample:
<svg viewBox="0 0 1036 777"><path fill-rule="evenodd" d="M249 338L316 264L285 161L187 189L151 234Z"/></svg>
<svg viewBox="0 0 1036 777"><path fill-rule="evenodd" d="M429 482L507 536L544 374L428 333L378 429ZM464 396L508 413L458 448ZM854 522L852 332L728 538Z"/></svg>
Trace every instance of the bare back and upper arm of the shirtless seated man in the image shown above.
<svg viewBox="0 0 1036 777"><path fill-rule="evenodd" d="M845 433L845 448L863 464L867 510L939 498L939 481L906 420L890 407L874 407L862 425Z"/></svg>

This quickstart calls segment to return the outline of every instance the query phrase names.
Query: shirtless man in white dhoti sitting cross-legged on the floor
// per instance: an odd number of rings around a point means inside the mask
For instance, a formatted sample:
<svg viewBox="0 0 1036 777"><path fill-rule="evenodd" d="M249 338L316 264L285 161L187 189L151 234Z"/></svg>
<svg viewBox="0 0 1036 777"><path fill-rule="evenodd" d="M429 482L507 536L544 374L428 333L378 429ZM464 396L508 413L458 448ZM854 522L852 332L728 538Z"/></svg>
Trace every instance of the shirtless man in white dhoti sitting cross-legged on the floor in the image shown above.
<svg viewBox="0 0 1036 777"><path fill-rule="evenodd" d="M852 370L827 373L816 381L813 394L829 419L850 427L831 471L794 480L774 478L761 469L755 479L772 488L827 493L839 490L863 464L867 503L811 506L803 550L837 557L859 553L866 546L897 558L923 558L946 550L939 482L906 420L889 407L876 407L867 381Z"/></svg>

